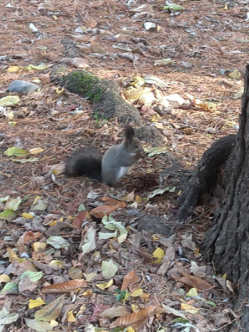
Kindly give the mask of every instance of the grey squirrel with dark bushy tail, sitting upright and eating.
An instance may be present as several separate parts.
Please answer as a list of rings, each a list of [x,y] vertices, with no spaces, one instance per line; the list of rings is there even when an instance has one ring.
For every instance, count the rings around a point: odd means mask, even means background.
[[[87,175],[114,186],[143,152],[141,142],[134,137],[133,128],[125,125],[125,139],[121,144],[111,146],[105,154],[92,148],[82,148],[69,157],[65,165],[67,176]]]

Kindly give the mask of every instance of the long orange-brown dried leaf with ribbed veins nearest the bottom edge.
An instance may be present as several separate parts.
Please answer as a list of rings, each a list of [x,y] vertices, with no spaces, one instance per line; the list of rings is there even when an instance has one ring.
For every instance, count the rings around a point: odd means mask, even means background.
[[[150,305],[147,308],[143,310],[138,310],[136,312],[133,312],[129,315],[120,317],[116,319],[112,324],[110,325],[110,328],[117,327],[117,326],[132,326],[135,328],[141,327],[145,322],[146,319],[154,314],[164,312],[165,309],[162,307],[156,306],[156,305]]]

